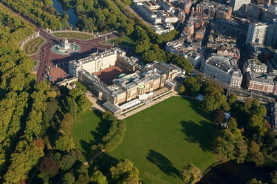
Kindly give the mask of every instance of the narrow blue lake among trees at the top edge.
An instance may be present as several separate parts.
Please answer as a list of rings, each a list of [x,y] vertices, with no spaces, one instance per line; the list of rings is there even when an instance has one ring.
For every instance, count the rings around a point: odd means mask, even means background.
[[[62,16],[64,15],[64,11],[69,15],[69,23],[73,26],[73,28],[76,27],[78,16],[73,10],[73,8],[69,8],[67,6],[64,6],[61,1],[59,0],[52,0],[53,6],[57,12],[59,12]]]

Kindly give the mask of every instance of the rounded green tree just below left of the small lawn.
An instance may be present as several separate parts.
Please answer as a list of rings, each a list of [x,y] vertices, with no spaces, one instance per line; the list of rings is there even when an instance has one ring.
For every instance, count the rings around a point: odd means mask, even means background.
[[[73,150],[75,148],[73,139],[67,135],[67,134],[62,134],[59,136],[57,141],[55,141],[54,149],[55,150],[61,150],[61,151],[67,151],[69,152],[70,150]]]

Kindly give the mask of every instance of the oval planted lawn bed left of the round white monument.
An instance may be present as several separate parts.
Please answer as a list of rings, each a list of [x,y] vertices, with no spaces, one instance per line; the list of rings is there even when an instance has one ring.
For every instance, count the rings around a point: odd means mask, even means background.
[[[35,37],[30,39],[27,43],[24,44],[23,50],[28,54],[35,54],[39,52],[41,46],[45,43],[45,39],[42,37]]]

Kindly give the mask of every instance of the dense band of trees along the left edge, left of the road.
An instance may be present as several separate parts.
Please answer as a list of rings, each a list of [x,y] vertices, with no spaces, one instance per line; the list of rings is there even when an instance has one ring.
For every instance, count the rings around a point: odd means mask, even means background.
[[[19,50],[19,41],[33,30],[32,25],[0,4],[0,176],[6,172],[10,154],[17,145],[21,121],[30,105],[29,91],[36,79],[30,74],[32,60]],[[21,147],[25,145],[21,144]]]

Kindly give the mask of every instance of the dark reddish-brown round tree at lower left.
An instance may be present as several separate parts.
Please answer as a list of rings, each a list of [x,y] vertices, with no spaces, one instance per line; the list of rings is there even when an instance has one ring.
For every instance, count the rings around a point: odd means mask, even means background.
[[[44,157],[42,161],[37,166],[37,170],[42,172],[48,177],[53,177],[59,172],[59,165],[57,165],[56,161],[52,157]]]

